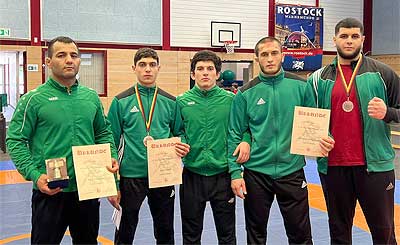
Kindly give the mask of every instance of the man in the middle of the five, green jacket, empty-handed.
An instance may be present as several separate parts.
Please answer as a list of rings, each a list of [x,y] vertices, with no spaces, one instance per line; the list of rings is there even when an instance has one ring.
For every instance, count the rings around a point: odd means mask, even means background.
[[[200,244],[206,202],[210,202],[219,244],[236,244],[235,195],[230,188],[227,154],[245,162],[250,146],[228,153],[227,128],[234,94],[218,86],[221,59],[212,51],[197,52],[191,61],[195,86],[177,97],[190,152],[184,159],[180,186],[183,244]],[[239,142],[240,143],[240,142]]]

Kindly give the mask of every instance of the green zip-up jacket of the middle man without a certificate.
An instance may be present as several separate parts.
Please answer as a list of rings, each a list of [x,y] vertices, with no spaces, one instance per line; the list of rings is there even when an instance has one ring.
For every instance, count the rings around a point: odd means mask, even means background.
[[[190,145],[183,160],[185,168],[204,176],[228,171],[227,130],[234,96],[218,86],[208,91],[194,86],[177,97],[186,143]]]

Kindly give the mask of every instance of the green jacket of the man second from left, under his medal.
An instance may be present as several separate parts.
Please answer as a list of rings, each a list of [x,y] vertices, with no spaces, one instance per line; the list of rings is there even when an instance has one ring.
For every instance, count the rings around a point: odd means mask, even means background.
[[[155,91],[138,85],[146,120]],[[150,135],[154,139],[165,139],[181,136],[181,122],[175,121],[175,97],[158,89]],[[180,116],[177,116],[179,119]],[[147,149],[143,138],[147,135],[146,125],[140,112],[135,87],[131,87],[117,95],[108,111],[115,144],[118,145],[120,175],[128,178],[147,178]]]

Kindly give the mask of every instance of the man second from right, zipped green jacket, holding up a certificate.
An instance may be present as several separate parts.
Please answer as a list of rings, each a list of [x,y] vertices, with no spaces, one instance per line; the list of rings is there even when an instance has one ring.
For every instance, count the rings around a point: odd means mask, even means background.
[[[281,68],[284,57],[277,39],[262,38],[255,54],[261,72],[236,94],[228,131],[228,151],[235,149],[245,131],[252,135],[243,177],[241,166],[228,154],[232,189],[244,199],[247,242],[266,243],[276,195],[289,244],[312,244],[305,160],[290,154],[294,107],[303,105],[306,83]]]

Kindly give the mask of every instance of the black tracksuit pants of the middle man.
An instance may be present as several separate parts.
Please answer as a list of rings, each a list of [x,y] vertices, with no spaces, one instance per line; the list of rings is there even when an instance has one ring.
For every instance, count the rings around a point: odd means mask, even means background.
[[[206,203],[214,216],[219,244],[236,244],[235,195],[228,172],[203,176],[186,168],[179,190],[183,244],[200,244]]]

